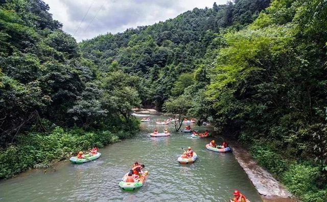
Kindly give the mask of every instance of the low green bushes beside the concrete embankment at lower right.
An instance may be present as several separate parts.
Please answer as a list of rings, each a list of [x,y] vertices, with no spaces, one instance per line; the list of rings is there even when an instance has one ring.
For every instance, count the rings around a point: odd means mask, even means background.
[[[285,187],[303,202],[322,202],[327,197],[323,170],[311,161],[286,158],[271,142],[256,141],[250,147],[251,156],[265,167]]]

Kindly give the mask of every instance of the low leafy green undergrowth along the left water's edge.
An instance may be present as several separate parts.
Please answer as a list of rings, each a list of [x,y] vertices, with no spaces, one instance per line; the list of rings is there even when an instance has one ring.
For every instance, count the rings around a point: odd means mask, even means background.
[[[136,131],[136,127],[117,132],[55,127],[48,133],[21,135],[14,145],[0,149],[0,179],[11,178],[31,168],[48,167],[50,163],[67,159],[78,151],[87,151],[95,146],[102,148],[131,137]]]

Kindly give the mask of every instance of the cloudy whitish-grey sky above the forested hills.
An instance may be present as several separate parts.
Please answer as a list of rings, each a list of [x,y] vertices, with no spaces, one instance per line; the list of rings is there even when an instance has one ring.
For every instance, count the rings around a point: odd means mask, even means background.
[[[43,0],[53,18],[77,41],[124,32],[174,18],[193,8],[212,8],[227,0]]]

